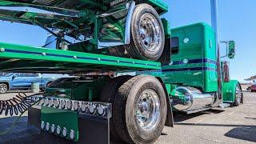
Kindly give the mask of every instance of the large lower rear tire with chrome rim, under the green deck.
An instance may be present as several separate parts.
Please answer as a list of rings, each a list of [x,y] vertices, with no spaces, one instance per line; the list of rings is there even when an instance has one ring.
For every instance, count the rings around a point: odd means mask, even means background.
[[[123,142],[151,143],[161,135],[167,104],[165,90],[157,78],[138,75],[123,81],[112,104],[112,130]]]

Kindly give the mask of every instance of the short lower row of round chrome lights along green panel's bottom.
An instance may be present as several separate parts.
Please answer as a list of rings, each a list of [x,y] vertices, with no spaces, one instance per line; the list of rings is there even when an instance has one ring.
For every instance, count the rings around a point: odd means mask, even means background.
[[[41,122],[41,129],[47,132],[50,132],[52,134],[57,134],[62,136],[63,138],[66,138],[68,136],[68,130],[66,127],[61,127],[61,126],[55,126],[54,124],[51,124],[49,122]],[[74,130],[70,130],[69,134],[70,140],[75,139],[75,132]]]

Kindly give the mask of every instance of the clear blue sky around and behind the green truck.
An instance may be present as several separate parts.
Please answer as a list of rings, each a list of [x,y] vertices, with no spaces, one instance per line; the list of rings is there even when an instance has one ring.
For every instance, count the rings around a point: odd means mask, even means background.
[[[172,27],[195,22],[210,24],[210,0],[166,0],[170,11],[165,17]],[[256,74],[256,1],[219,0],[221,40],[234,40],[237,55],[230,60],[231,78],[243,81]],[[0,42],[42,46],[46,31],[38,26],[0,22]],[[224,48],[224,46],[223,46]]]

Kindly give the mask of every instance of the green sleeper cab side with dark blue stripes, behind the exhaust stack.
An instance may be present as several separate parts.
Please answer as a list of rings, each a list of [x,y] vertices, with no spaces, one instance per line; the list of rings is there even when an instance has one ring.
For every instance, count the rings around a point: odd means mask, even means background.
[[[178,54],[172,54],[171,65],[162,66],[166,83],[195,86],[204,92],[218,90],[214,31],[205,23],[172,30],[178,38]],[[187,62],[186,62],[187,61]]]

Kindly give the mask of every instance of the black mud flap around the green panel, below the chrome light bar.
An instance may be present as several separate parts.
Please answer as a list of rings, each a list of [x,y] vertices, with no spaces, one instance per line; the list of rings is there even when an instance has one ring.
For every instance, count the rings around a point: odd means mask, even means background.
[[[28,125],[33,125],[41,130],[41,110],[39,108],[31,107],[28,111]],[[95,116],[79,114],[78,126],[79,140],[76,143],[110,143],[110,118],[97,118]],[[41,132],[40,139],[42,139],[44,142],[54,143],[71,142],[47,132]]]

